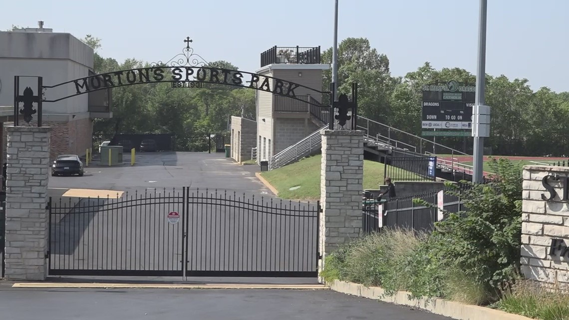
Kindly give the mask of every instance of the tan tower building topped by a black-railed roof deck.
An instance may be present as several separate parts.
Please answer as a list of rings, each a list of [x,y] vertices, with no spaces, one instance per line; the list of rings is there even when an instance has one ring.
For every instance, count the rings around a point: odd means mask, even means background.
[[[232,121],[231,128],[232,131],[241,134],[241,140],[253,140],[256,143],[253,146],[243,142],[237,145],[233,143],[232,135],[232,146],[239,149],[249,148],[249,150],[236,151],[232,158],[237,162],[246,161],[251,157],[250,148],[256,147],[257,161],[269,161],[274,154],[278,154],[324,126],[327,119],[323,118],[321,108],[314,105],[322,101],[320,93],[323,91],[322,72],[329,68],[330,65],[320,63],[320,47],[275,46],[263,52],[261,68],[255,72],[304,86],[295,89],[295,96],[300,101],[258,91],[255,137],[245,136],[237,122]],[[271,81],[273,88],[276,80]]]

